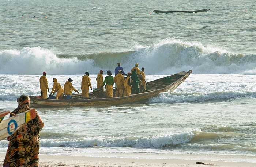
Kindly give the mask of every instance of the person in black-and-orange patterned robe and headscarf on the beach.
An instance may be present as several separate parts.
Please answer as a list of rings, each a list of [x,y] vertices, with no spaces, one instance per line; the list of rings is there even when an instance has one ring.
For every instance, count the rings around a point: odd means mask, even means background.
[[[19,106],[12,113],[19,114],[29,110],[29,103],[28,96],[20,96]],[[23,124],[7,138],[9,144],[3,167],[39,166],[40,131],[44,127],[44,122],[37,112],[36,114],[35,119]]]

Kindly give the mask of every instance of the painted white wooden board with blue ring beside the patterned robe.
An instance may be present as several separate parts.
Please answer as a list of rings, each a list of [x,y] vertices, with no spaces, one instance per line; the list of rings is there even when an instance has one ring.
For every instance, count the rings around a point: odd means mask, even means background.
[[[17,129],[23,124],[34,119],[36,117],[35,109],[27,110],[23,113],[12,116],[6,120],[3,120],[0,126],[0,140],[5,137],[11,136]]]

